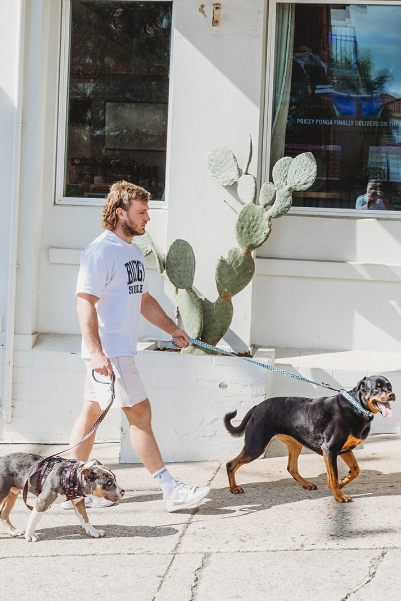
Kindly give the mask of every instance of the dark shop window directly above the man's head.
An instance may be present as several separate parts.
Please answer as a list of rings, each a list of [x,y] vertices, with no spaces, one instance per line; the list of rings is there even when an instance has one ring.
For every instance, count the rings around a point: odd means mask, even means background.
[[[171,10],[166,1],[66,2],[58,202],[103,203],[121,179],[164,200]]]

